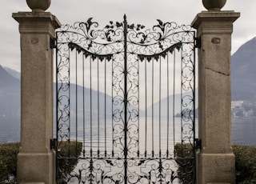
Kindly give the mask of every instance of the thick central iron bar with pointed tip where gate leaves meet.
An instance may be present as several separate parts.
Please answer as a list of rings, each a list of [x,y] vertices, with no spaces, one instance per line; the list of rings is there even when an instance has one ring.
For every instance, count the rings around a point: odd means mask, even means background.
[[[125,161],[124,161],[124,166],[125,166],[125,184],[127,183],[127,98],[128,98],[128,92],[127,92],[127,21],[126,21],[126,14],[124,15],[124,109],[125,109],[125,114],[124,114],[124,133],[125,133],[125,147],[124,147],[124,154],[125,154]]]

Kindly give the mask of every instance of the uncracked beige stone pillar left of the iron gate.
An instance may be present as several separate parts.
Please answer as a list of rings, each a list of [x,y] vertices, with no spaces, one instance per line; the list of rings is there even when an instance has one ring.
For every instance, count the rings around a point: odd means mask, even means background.
[[[54,183],[53,138],[53,50],[50,38],[60,26],[44,1],[32,12],[13,18],[21,34],[22,114],[21,147],[18,154],[18,183]],[[38,2],[40,2],[38,1]],[[29,3],[29,1],[27,1]],[[39,3],[40,4],[40,3]],[[29,4],[30,5],[30,4]]]

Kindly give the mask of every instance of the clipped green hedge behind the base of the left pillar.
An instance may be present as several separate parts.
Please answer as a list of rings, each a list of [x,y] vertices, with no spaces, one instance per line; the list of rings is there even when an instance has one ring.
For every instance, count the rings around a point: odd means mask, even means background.
[[[0,144],[0,184],[17,183],[17,154],[20,144],[6,143]],[[62,142],[60,146],[60,155],[65,158],[69,156],[68,162],[60,162],[59,169],[62,173],[59,178],[66,181],[68,175],[78,163],[78,156],[82,152],[82,142]]]

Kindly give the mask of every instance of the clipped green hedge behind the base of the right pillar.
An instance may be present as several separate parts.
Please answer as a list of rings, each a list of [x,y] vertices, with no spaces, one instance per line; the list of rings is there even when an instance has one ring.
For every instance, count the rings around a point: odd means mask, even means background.
[[[256,184],[256,147],[233,146],[235,155],[236,183]],[[175,146],[176,161],[179,165],[178,177],[182,183],[188,181],[188,174],[192,171],[193,150],[190,144],[177,144]]]

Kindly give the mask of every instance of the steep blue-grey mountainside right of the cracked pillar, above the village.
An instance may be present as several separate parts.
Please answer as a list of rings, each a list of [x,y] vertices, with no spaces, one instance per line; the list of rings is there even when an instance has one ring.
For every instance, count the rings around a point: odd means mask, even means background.
[[[256,98],[256,38],[243,44],[231,57],[232,100]]]

